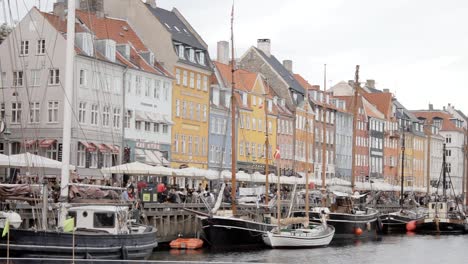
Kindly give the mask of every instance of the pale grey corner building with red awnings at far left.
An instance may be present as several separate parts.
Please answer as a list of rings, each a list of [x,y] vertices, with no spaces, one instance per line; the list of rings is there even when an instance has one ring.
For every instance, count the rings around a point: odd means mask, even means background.
[[[62,158],[63,107],[72,105],[70,163],[81,177],[119,164],[125,66],[112,41],[76,24],[74,96],[64,102],[66,19],[32,8],[0,46],[4,154]],[[21,32],[21,34],[20,34]]]

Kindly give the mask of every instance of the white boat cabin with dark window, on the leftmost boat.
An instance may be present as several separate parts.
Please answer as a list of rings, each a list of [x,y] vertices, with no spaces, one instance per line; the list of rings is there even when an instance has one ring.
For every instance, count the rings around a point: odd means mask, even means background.
[[[128,233],[128,207],[114,205],[87,205],[68,209],[75,218],[77,230],[94,230],[110,234]]]

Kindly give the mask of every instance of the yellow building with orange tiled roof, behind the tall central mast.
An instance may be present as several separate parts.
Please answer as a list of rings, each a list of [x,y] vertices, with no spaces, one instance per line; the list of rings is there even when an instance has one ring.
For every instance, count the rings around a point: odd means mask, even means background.
[[[215,62],[222,78],[231,83],[230,65]],[[277,109],[273,100],[275,94],[258,73],[238,69],[235,72],[237,127],[237,169],[264,173],[266,154],[269,157],[269,170],[275,169],[272,161],[276,146]],[[266,103],[265,103],[266,100]],[[269,147],[266,151],[265,139],[268,129]]]

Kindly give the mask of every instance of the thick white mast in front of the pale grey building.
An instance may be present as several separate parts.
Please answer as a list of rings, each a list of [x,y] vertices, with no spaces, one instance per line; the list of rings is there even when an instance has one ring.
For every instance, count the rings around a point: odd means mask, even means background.
[[[60,182],[60,200],[62,202],[66,202],[68,199],[68,184],[70,181],[71,104],[73,104],[73,66],[75,65],[75,2],[68,1],[65,92],[63,99],[62,179]],[[63,224],[65,217],[66,210],[60,210],[60,226]]]

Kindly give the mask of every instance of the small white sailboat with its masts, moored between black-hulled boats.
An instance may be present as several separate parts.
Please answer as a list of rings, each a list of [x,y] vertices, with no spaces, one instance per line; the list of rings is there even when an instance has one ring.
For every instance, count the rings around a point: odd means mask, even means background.
[[[305,102],[306,114],[309,113],[309,100]],[[306,142],[308,143],[308,118],[306,118]],[[308,151],[306,151],[306,161],[309,161]],[[278,170],[279,171],[279,170]],[[278,175],[277,193],[277,224],[278,227],[263,234],[263,242],[271,248],[308,248],[327,246],[335,235],[335,228],[328,226],[325,213],[321,214],[322,224],[310,225],[308,214],[306,217],[286,218],[283,221],[280,210],[280,181]],[[306,170],[306,199],[305,211],[309,212],[309,169]],[[282,228],[285,227],[286,228]],[[298,227],[299,226],[299,227]],[[302,226],[302,227],[300,227]]]

